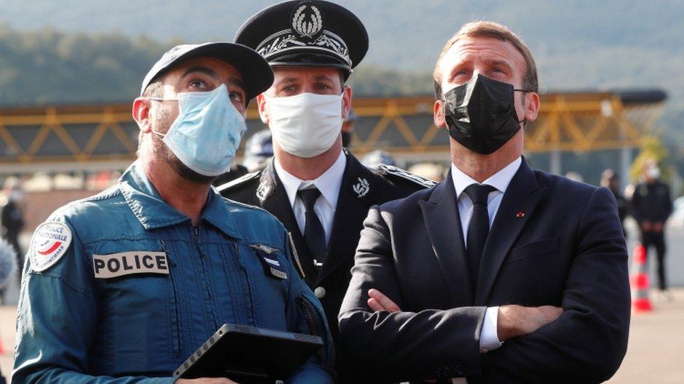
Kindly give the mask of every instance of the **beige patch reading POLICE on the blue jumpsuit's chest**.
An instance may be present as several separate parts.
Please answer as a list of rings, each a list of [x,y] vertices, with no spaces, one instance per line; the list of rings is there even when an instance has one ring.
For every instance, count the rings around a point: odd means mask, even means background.
[[[169,274],[165,252],[134,250],[130,252],[93,255],[95,278],[115,278],[133,273]]]

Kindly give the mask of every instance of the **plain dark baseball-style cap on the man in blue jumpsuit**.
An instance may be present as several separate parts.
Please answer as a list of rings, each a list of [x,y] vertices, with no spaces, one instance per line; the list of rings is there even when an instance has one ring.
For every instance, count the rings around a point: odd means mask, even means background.
[[[148,85],[173,66],[196,57],[214,57],[234,66],[240,72],[242,82],[245,83],[247,100],[254,99],[273,84],[271,66],[252,48],[226,42],[184,44],[171,48],[152,66],[142,80],[140,95],[142,96]]]

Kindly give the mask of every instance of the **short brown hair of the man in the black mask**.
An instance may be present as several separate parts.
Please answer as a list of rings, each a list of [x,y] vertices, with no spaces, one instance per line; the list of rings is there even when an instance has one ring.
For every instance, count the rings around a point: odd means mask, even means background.
[[[442,57],[446,55],[446,52],[449,52],[449,49],[451,49],[457,41],[473,37],[493,37],[498,38],[500,41],[507,41],[513,44],[518,52],[523,55],[525,63],[527,64],[527,71],[523,79],[523,89],[538,92],[539,80],[537,77],[537,64],[535,64],[530,48],[528,48],[517,34],[514,34],[513,31],[505,27],[505,25],[497,22],[479,21],[464,24],[463,27],[460,27],[458,32],[451,36],[449,41],[444,44],[442,52],[440,52],[439,57],[437,57],[435,71],[432,73],[432,79],[435,83],[435,99],[442,99],[442,73],[439,73],[439,62],[442,61]]]

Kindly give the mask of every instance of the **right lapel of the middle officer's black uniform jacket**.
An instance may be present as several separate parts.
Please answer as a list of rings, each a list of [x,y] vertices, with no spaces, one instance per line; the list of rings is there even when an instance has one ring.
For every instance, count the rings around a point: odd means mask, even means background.
[[[371,171],[349,152],[345,151],[345,155],[347,164],[335,207],[327,255],[318,273],[318,283],[344,264],[348,258],[354,257],[363,229],[363,220],[380,192]]]

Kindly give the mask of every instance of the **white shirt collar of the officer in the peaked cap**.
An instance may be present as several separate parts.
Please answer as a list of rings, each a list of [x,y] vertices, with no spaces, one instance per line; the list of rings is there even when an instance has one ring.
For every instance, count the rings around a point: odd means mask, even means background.
[[[282,186],[285,187],[285,192],[287,192],[287,199],[289,199],[290,206],[294,206],[294,199],[297,196],[297,191],[303,189],[303,187],[308,187],[309,185],[315,185],[331,206],[337,206],[337,199],[340,195],[340,187],[342,185],[342,177],[344,176],[344,169],[347,165],[347,157],[344,155],[343,151],[340,151],[340,155],[330,168],[315,180],[301,180],[296,176],[292,176],[292,174],[282,168],[278,159],[275,159],[273,163],[275,171],[280,178],[280,182],[282,183]]]

